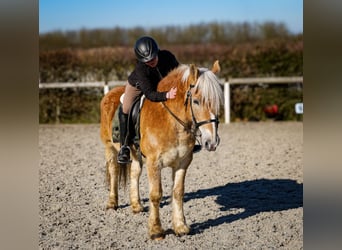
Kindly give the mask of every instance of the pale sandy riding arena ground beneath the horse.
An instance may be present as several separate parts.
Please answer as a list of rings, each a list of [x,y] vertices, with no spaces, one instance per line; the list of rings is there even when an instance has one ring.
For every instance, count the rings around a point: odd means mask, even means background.
[[[303,123],[220,124],[216,152],[194,155],[185,181],[190,235],[171,225],[171,171],[163,169],[162,241],[133,215],[128,189],[105,210],[104,147],[95,125],[39,126],[39,249],[302,249]]]

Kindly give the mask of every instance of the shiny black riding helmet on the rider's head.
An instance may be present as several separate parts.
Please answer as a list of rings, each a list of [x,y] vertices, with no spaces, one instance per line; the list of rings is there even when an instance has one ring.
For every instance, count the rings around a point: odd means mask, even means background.
[[[135,56],[140,62],[148,62],[155,58],[159,48],[157,42],[149,36],[140,37],[134,46]]]

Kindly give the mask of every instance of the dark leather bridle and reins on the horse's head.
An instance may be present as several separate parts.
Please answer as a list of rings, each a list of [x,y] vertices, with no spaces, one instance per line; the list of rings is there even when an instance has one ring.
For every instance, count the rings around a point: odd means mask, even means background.
[[[163,106],[165,107],[165,109],[176,119],[176,121],[178,121],[183,127],[184,129],[193,134],[195,138],[197,137],[200,137],[201,134],[197,133],[199,130],[199,127],[204,125],[204,124],[207,124],[207,123],[215,123],[215,132],[216,132],[216,146],[218,146],[220,144],[220,137],[218,136],[218,124],[219,124],[219,119],[218,119],[218,115],[215,115],[215,118],[214,119],[208,119],[208,120],[204,120],[204,121],[200,121],[198,122],[196,117],[195,117],[195,114],[194,114],[194,110],[193,110],[193,107],[192,107],[192,93],[191,93],[191,89],[195,87],[195,85],[192,85],[190,84],[190,87],[188,89],[188,91],[186,92],[186,99],[185,99],[185,102],[184,102],[184,106],[185,106],[185,109],[187,108],[188,106],[188,103],[190,101],[190,110],[191,110],[191,116],[192,116],[192,126],[189,126],[187,123],[185,123],[184,121],[182,121],[179,117],[177,117],[171,110],[168,106],[166,106],[165,102],[162,102]]]

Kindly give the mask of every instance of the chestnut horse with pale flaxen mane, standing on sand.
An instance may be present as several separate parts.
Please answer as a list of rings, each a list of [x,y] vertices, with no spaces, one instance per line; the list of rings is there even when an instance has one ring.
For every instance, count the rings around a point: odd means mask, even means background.
[[[222,88],[215,73],[220,70],[218,61],[211,70],[194,65],[180,65],[158,85],[159,91],[177,87],[175,99],[166,102],[145,100],[140,115],[140,149],[146,163],[149,181],[149,235],[163,239],[164,230],[159,218],[162,198],[161,170],[172,168],[172,224],[176,235],[190,231],[183,212],[184,179],[193,158],[196,139],[208,151],[219,144],[218,114],[223,101]],[[121,175],[130,178],[130,203],[134,213],[143,211],[139,194],[141,166],[138,154],[131,145],[132,163],[117,163],[119,143],[112,140],[112,120],[120,103],[124,86],[113,88],[101,101],[101,139],[105,145],[107,179],[110,185],[107,209],[118,208],[118,187]],[[124,183],[125,183],[124,182]]]

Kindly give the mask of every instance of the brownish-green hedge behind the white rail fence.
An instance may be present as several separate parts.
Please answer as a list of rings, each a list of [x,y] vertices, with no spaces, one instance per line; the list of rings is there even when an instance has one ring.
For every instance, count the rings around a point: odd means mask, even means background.
[[[211,67],[218,59],[219,77],[303,75],[303,39],[292,37],[238,45],[170,45],[181,63]],[[39,54],[41,82],[126,80],[134,68],[130,47],[45,50]],[[40,89],[40,123],[99,122],[102,89]],[[294,105],[303,101],[301,84],[232,86],[231,118],[239,120],[302,120]],[[279,113],[269,117],[264,108],[277,104]],[[57,110],[59,109],[59,115]]]

